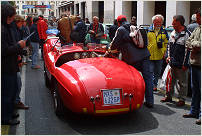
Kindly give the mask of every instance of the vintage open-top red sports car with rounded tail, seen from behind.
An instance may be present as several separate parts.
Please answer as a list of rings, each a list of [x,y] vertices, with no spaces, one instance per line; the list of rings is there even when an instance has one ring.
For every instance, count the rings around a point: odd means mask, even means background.
[[[44,44],[44,78],[53,91],[56,115],[64,108],[75,113],[112,115],[134,111],[143,104],[145,82],[132,66],[102,45],[61,46],[48,36]]]

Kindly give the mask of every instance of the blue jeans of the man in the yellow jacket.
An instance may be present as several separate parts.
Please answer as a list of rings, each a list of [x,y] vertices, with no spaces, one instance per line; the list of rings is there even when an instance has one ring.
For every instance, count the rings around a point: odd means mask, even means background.
[[[158,80],[161,76],[163,60],[150,60],[150,67],[153,72],[153,88],[157,87]]]

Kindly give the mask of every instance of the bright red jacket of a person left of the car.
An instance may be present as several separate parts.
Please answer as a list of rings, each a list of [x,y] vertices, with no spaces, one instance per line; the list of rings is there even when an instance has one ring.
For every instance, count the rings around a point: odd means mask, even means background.
[[[46,40],[47,34],[46,30],[48,29],[47,23],[43,20],[43,18],[39,17],[39,21],[37,23],[37,30],[39,33],[39,38]]]

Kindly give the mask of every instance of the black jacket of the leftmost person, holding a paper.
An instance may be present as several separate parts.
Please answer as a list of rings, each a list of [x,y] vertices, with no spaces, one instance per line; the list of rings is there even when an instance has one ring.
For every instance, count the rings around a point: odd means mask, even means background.
[[[1,74],[15,74],[18,71],[18,55],[22,48],[12,38],[8,24],[1,24]]]

